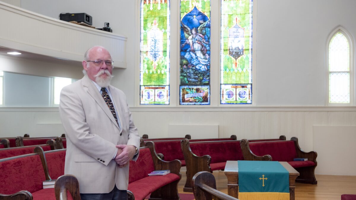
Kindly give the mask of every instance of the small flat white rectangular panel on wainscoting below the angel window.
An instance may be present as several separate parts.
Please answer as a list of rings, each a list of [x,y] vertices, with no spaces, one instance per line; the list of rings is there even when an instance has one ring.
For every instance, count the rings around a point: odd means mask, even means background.
[[[190,135],[192,139],[208,139],[219,137],[219,125],[185,125],[169,124],[167,137],[184,137]]]

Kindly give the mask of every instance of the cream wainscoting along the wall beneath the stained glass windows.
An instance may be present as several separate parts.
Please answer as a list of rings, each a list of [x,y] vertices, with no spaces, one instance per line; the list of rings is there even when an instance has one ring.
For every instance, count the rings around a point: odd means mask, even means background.
[[[216,125],[219,138],[236,135],[238,140],[264,139],[285,135],[290,140],[291,137],[298,137],[303,151],[318,153],[316,174],[356,175],[352,172],[356,168],[356,107],[132,107],[130,110],[141,136],[168,137],[169,125]],[[39,136],[36,131],[40,128],[37,125],[41,124],[42,131],[45,131],[48,124],[59,123],[58,108],[0,107],[0,137],[23,136],[24,133],[36,137]],[[58,128],[59,125],[55,126]],[[327,130],[330,129],[329,133],[316,130],[316,126],[326,126]],[[333,131],[330,127],[337,128]],[[56,131],[57,135],[61,133],[59,129]],[[172,137],[184,137],[185,134]]]

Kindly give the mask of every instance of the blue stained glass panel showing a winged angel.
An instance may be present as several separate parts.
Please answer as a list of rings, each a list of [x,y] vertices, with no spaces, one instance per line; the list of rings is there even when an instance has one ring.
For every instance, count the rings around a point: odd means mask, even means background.
[[[180,0],[180,105],[210,104],[210,0]]]

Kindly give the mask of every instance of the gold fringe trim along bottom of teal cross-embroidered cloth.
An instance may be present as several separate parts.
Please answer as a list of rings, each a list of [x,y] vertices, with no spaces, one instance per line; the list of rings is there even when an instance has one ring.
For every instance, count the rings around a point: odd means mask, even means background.
[[[289,200],[289,193],[239,193],[240,200]]]

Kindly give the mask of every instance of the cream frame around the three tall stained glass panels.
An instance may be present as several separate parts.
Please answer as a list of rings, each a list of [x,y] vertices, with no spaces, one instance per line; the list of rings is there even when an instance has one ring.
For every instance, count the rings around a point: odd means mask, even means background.
[[[255,107],[256,100],[258,94],[256,93],[256,71],[257,71],[257,62],[256,62],[256,36],[252,37],[252,104],[221,104],[220,103],[220,43],[221,43],[221,0],[211,1],[211,7],[216,7],[216,9],[211,9],[211,16],[216,16],[211,18],[211,38],[215,38],[211,40],[211,46],[216,46],[218,48],[211,49],[210,65],[216,65],[218,67],[211,67],[210,69],[210,105],[180,105],[179,102],[179,85],[180,85],[180,52],[179,52],[179,40],[175,38],[179,38],[180,36],[180,1],[170,1],[170,70],[169,70],[169,105],[141,105],[140,104],[140,59],[141,59],[141,47],[140,47],[140,38],[141,38],[141,0],[136,0],[136,9],[135,9],[135,21],[136,21],[136,32],[135,36],[137,40],[135,40],[135,88],[134,88],[134,102],[135,107],[189,107],[189,108],[223,108],[223,107]],[[258,0],[253,0],[253,26],[252,32],[256,32],[257,30],[257,9],[258,9]]]

